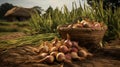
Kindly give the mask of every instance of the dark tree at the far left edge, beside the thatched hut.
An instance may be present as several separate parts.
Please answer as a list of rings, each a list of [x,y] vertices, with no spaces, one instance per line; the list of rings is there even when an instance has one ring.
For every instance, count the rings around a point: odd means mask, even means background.
[[[14,6],[12,4],[9,4],[9,3],[1,4],[1,6],[0,6],[0,19],[4,19],[5,13],[13,7]]]

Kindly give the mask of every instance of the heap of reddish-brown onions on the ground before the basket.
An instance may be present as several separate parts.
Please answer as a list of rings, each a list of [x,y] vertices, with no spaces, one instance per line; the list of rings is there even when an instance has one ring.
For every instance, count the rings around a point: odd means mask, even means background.
[[[67,62],[72,63],[74,60],[84,60],[92,56],[90,52],[82,49],[78,42],[71,41],[67,34],[66,40],[54,39],[52,42],[44,42],[39,49],[40,61],[44,63]]]

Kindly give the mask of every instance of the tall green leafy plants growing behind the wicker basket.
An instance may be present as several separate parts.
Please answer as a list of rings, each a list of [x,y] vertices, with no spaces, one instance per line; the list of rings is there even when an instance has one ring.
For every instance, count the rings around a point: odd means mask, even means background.
[[[93,0],[94,1],[94,0]],[[89,18],[90,20],[104,22],[108,26],[108,31],[105,34],[105,40],[120,38],[120,8],[114,11],[112,7],[103,8],[103,1],[94,1],[93,5],[84,7],[73,2],[72,10],[69,11],[64,5],[61,10],[49,7],[43,15],[35,14],[30,20],[32,31],[35,33],[57,32],[57,26],[63,24],[74,23],[76,19],[82,20]]]

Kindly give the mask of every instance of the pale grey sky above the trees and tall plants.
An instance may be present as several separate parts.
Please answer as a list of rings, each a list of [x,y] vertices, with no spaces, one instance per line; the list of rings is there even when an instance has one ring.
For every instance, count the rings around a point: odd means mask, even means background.
[[[32,8],[33,6],[40,6],[42,9],[46,10],[49,6],[52,6],[53,9],[58,7],[61,9],[63,5],[66,5],[69,10],[72,9],[72,2],[76,2],[79,6],[79,1],[81,4],[86,0],[0,0],[0,5],[3,3],[10,3],[15,6]]]

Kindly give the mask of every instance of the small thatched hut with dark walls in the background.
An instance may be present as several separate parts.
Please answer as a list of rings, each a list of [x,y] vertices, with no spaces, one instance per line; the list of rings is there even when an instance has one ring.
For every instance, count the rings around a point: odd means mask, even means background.
[[[31,17],[34,10],[31,8],[13,7],[4,15],[8,21],[24,21]]]

